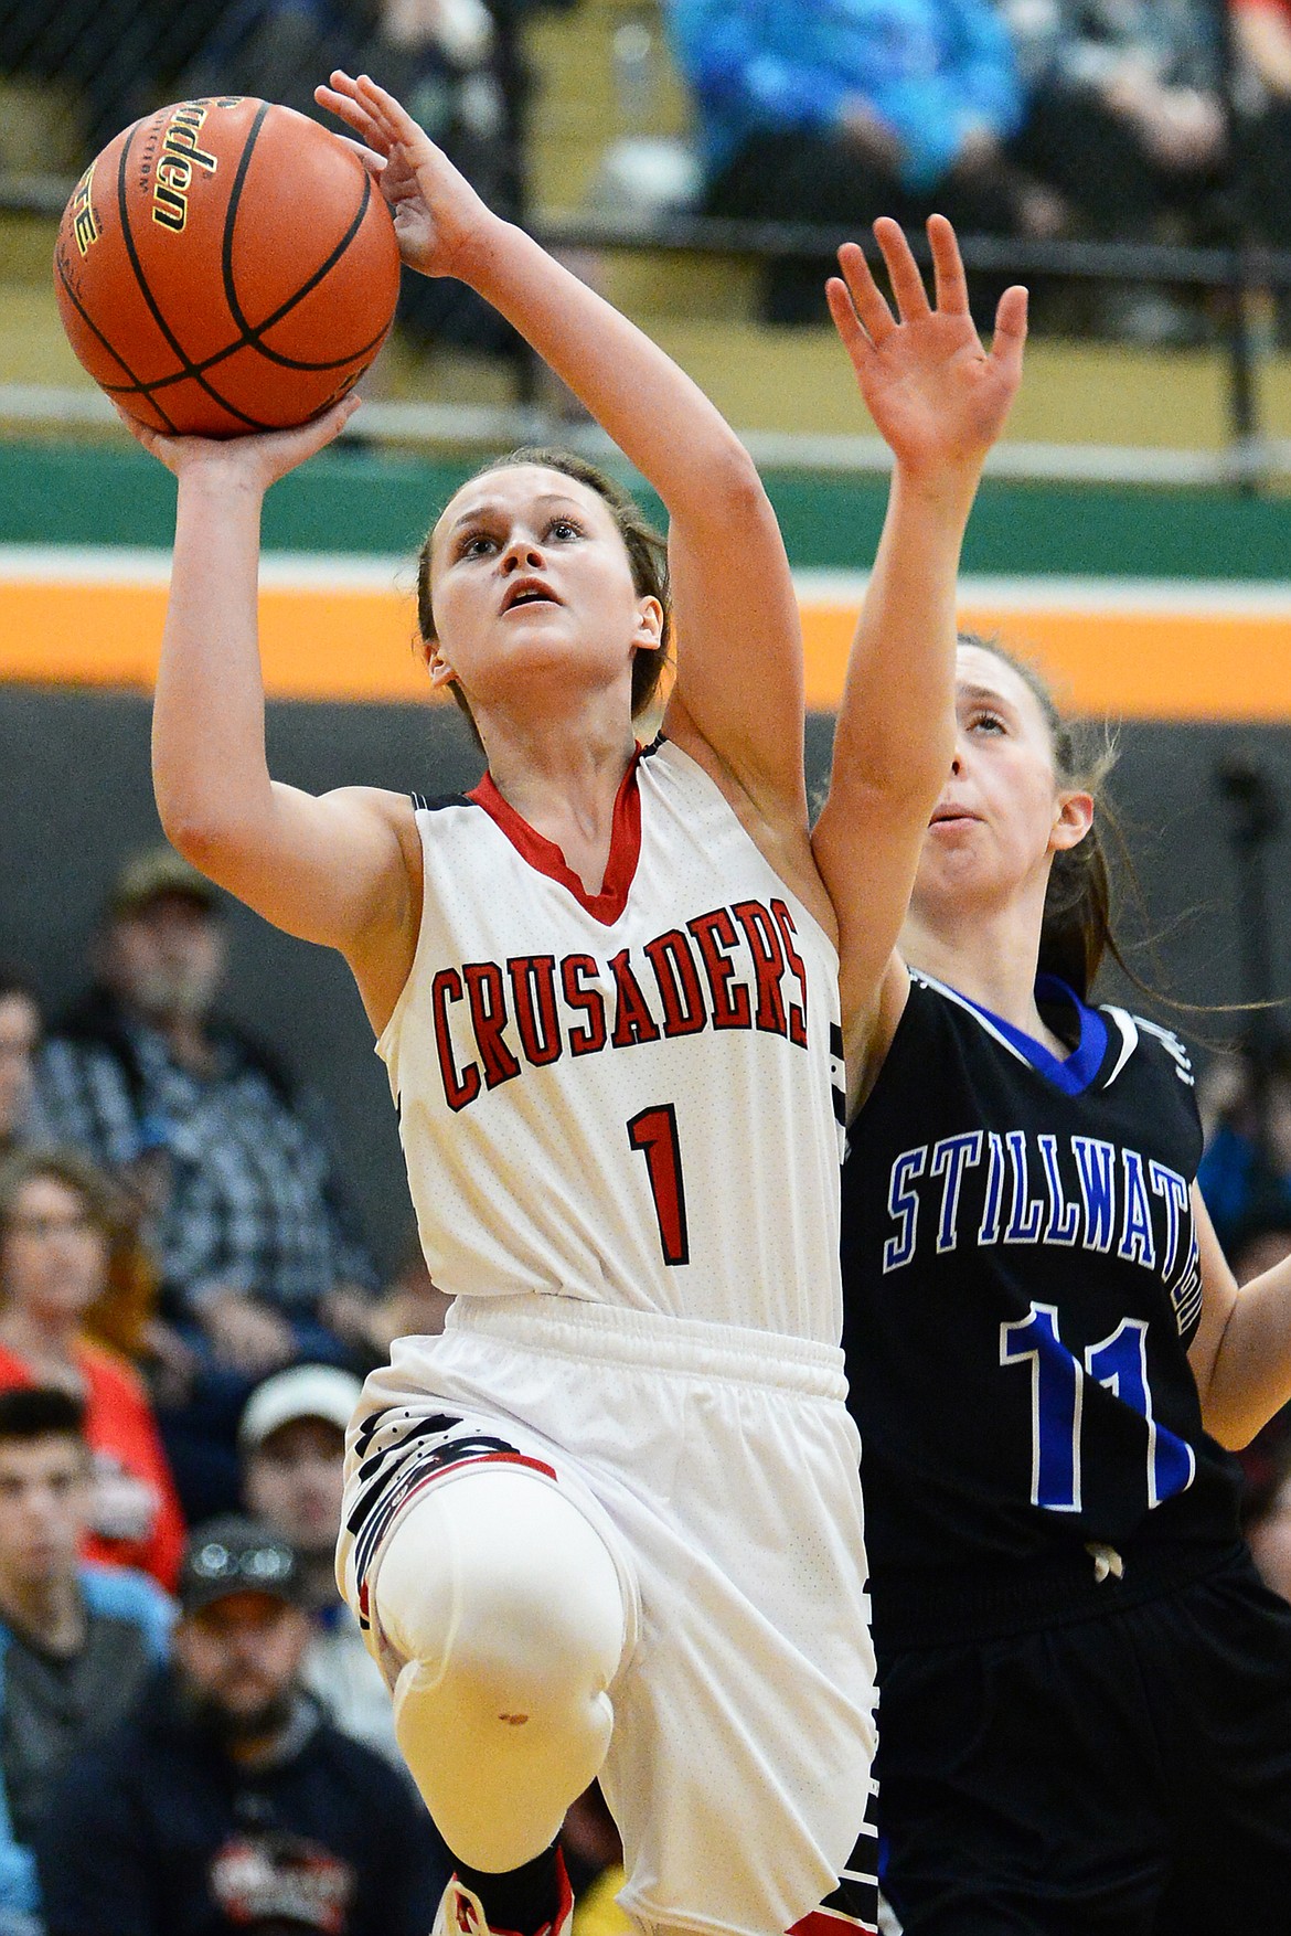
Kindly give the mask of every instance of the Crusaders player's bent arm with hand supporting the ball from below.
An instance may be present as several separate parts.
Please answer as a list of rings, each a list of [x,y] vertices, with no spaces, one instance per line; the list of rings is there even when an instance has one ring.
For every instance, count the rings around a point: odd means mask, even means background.
[[[370,788],[315,800],[271,780],[255,614],[263,496],[329,443],[354,407],[346,399],[300,430],[226,441],[163,438],[126,422],[178,478],[153,705],[163,829],[203,873],[277,927],[337,947],[360,968],[368,953],[387,956],[389,999],[372,976],[360,976],[374,1018],[383,1020],[379,1011],[393,1007],[406,974],[391,939],[412,931],[416,916],[408,906],[416,858],[412,875],[406,865],[412,813],[397,796]],[[377,933],[383,947],[370,951]]]

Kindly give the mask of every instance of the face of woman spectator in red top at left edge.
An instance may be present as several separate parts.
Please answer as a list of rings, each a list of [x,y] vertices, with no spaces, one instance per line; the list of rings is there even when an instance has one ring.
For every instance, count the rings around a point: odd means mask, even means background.
[[[81,1193],[60,1177],[27,1177],[0,1239],[4,1305],[54,1328],[75,1322],[103,1289],[106,1258]]]

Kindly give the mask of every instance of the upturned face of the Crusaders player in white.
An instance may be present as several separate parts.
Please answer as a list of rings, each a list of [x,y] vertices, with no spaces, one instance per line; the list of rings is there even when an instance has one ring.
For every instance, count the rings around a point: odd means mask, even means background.
[[[631,718],[631,662],[662,612],[598,492],[542,465],[488,470],[449,501],[430,558],[435,683],[526,716],[612,689]]]

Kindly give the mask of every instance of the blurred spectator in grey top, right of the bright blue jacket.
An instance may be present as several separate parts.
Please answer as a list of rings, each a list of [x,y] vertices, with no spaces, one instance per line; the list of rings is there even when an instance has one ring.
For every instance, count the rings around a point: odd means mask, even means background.
[[[1028,106],[1012,155],[1094,236],[1206,240],[1225,161],[1221,39],[1210,0],[1001,0]],[[1107,298],[1123,335],[1186,335],[1165,296]]]

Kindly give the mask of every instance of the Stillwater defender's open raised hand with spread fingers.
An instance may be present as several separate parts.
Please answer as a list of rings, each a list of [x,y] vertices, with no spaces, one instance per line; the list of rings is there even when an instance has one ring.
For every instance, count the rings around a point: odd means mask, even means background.
[[[1001,296],[987,354],[968,310],[964,263],[946,217],[931,215],[927,223],[935,306],[900,225],[881,217],[875,238],[896,316],[856,242],[838,250],[842,277],[826,285],[834,327],[869,414],[908,470],[976,470],[1005,428],[1022,379],[1026,290],[1014,287]]]

